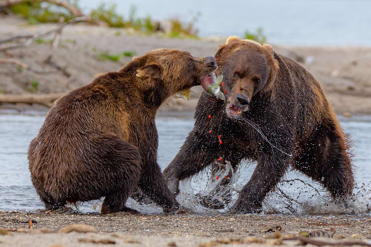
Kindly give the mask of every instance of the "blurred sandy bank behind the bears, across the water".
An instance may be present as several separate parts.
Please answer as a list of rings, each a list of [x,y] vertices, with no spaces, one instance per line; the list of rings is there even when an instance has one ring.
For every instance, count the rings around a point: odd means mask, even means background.
[[[0,17],[1,39],[16,34],[31,34],[53,29],[55,24],[28,25],[14,17]],[[111,55],[131,51],[141,56],[148,50],[175,48],[188,50],[193,56],[213,56],[225,38],[200,40],[164,39],[130,31],[77,24],[66,26],[52,61],[62,69],[44,64],[43,57],[53,37],[45,37],[23,49],[0,52],[0,59],[20,60],[29,69],[20,70],[14,64],[0,63],[0,89],[5,94],[68,92],[90,83],[96,73],[115,71],[131,60],[121,56],[118,61],[99,59],[99,54]],[[269,37],[268,37],[269,41]],[[275,51],[298,61],[324,86],[332,108],[345,116],[371,114],[371,47],[293,47],[272,44]],[[3,44],[4,46],[4,44]],[[37,88],[32,88],[37,81]],[[193,88],[190,102],[177,99],[165,109],[193,111],[201,89]],[[4,104],[1,108],[10,107]],[[14,107],[14,106],[12,106]],[[15,106],[17,107],[17,106]],[[22,106],[19,106],[22,108]]]

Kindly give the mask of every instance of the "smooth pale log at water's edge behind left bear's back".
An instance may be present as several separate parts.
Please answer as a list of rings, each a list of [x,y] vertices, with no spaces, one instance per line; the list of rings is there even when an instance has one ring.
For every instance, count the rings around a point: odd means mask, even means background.
[[[0,94],[0,103],[26,103],[42,104],[52,107],[54,101],[66,93],[48,93],[48,94]]]

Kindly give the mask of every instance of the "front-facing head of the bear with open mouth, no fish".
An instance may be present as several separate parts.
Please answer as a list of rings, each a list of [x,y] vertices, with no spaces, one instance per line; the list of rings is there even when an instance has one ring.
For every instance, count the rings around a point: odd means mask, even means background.
[[[278,73],[272,46],[230,36],[215,55],[226,89],[226,112],[238,118],[253,97],[270,90]]]

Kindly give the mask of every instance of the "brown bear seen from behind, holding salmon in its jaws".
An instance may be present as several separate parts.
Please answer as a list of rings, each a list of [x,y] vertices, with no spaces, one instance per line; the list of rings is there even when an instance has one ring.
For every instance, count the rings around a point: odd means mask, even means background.
[[[157,163],[155,116],[165,99],[215,70],[213,57],[158,49],[61,97],[28,150],[46,209],[105,197],[102,214],[138,213],[125,206],[137,186],[165,212],[178,208]]]

